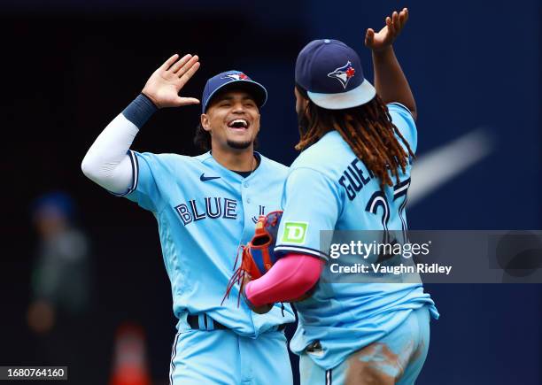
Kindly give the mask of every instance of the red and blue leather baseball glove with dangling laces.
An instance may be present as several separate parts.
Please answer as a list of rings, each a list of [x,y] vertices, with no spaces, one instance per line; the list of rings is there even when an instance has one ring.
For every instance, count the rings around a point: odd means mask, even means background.
[[[261,215],[256,223],[256,232],[252,237],[252,240],[246,245],[240,245],[237,250],[236,263],[234,270],[236,269],[239,259],[239,253],[241,253],[241,266],[239,266],[231,279],[228,282],[226,288],[226,294],[222,298],[222,304],[229,297],[231,289],[236,284],[239,284],[239,295],[237,296],[237,306],[239,306],[241,300],[241,294],[244,295],[244,285],[252,280],[257,280],[259,277],[267,273],[271,266],[275,265],[277,260],[275,256],[275,242],[276,234],[278,232],[279,223],[283,212],[269,212],[267,215]],[[246,299],[246,298],[245,298]],[[246,301],[249,306],[251,304]],[[254,312],[268,312],[273,305],[260,306],[254,308],[251,306]]]

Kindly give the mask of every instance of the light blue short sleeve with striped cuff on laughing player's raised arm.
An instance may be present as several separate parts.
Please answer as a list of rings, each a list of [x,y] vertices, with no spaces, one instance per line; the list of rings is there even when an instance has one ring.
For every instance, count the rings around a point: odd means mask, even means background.
[[[129,150],[128,155],[132,161],[134,178],[128,192],[122,196],[136,202],[145,210],[159,212],[162,206],[156,175],[159,171],[159,157],[149,152],[139,153],[133,150]]]

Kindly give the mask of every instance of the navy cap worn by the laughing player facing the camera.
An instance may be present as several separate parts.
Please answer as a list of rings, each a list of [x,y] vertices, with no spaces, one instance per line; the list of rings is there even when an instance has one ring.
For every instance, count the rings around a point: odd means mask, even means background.
[[[202,96],[202,113],[207,111],[209,102],[219,90],[242,89],[252,96],[258,107],[267,102],[267,89],[257,81],[252,81],[246,74],[240,71],[226,71],[213,76],[205,84],[204,94]]]

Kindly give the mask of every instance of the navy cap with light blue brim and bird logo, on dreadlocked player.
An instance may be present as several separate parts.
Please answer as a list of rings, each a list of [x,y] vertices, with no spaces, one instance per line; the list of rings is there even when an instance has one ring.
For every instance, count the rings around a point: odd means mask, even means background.
[[[328,110],[356,107],[376,96],[373,85],[363,77],[356,51],[338,40],[306,44],[296,61],[296,83],[314,104]]]

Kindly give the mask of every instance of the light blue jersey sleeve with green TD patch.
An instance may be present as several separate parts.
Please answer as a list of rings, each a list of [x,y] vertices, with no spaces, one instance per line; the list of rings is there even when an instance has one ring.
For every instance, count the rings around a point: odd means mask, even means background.
[[[283,191],[283,217],[277,233],[275,253],[307,254],[328,259],[321,245],[321,230],[333,230],[341,212],[337,186],[324,174],[310,168],[296,168]]]

